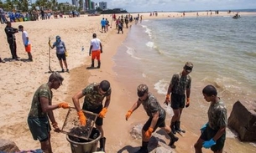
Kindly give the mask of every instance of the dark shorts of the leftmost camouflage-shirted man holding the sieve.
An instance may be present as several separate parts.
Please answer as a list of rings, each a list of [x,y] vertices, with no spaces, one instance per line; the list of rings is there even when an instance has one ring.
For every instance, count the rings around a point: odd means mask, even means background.
[[[48,117],[28,117],[28,125],[34,140],[48,140],[51,130]]]

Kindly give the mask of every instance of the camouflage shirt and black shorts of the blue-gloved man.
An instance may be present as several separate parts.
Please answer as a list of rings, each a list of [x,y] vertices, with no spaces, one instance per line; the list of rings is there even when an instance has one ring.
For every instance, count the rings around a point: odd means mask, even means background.
[[[203,131],[200,138],[202,140],[211,140],[217,131],[222,126],[227,126],[227,109],[223,101],[220,99],[217,103],[212,103],[208,110],[208,125]],[[226,133],[224,133],[217,141],[216,145],[212,145],[211,150],[222,150],[226,140]]]

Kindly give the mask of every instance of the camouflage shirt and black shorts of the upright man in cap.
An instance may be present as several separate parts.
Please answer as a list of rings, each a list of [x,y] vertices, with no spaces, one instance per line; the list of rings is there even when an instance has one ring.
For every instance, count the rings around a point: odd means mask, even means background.
[[[185,89],[191,89],[191,75],[174,74],[170,80],[171,89],[171,108],[177,110],[185,107]]]

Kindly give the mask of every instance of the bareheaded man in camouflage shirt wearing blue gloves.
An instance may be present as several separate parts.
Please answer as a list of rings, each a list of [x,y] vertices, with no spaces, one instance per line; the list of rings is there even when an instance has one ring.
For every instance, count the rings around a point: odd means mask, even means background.
[[[211,105],[208,109],[208,122],[201,127],[201,136],[196,141],[195,152],[201,153],[201,148],[211,148],[214,153],[222,153],[226,140],[227,109],[222,99],[217,97],[217,89],[206,85],[202,89],[206,102]]]

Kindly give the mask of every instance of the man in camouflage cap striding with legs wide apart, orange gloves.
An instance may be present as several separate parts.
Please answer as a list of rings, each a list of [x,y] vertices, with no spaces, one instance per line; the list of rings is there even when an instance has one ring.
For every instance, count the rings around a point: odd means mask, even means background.
[[[139,84],[137,87],[138,100],[133,104],[132,108],[128,110],[125,119],[132,115],[134,110],[137,110],[140,105],[144,106],[144,110],[149,116],[149,120],[144,124],[142,129],[142,146],[138,150],[141,153],[148,153],[149,139],[152,133],[160,127],[170,136],[170,146],[179,140],[170,130],[170,126],[165,125],[165,110],[159,105],[159,101],[153,94],[149,93],[149,88],[146,84]]]

